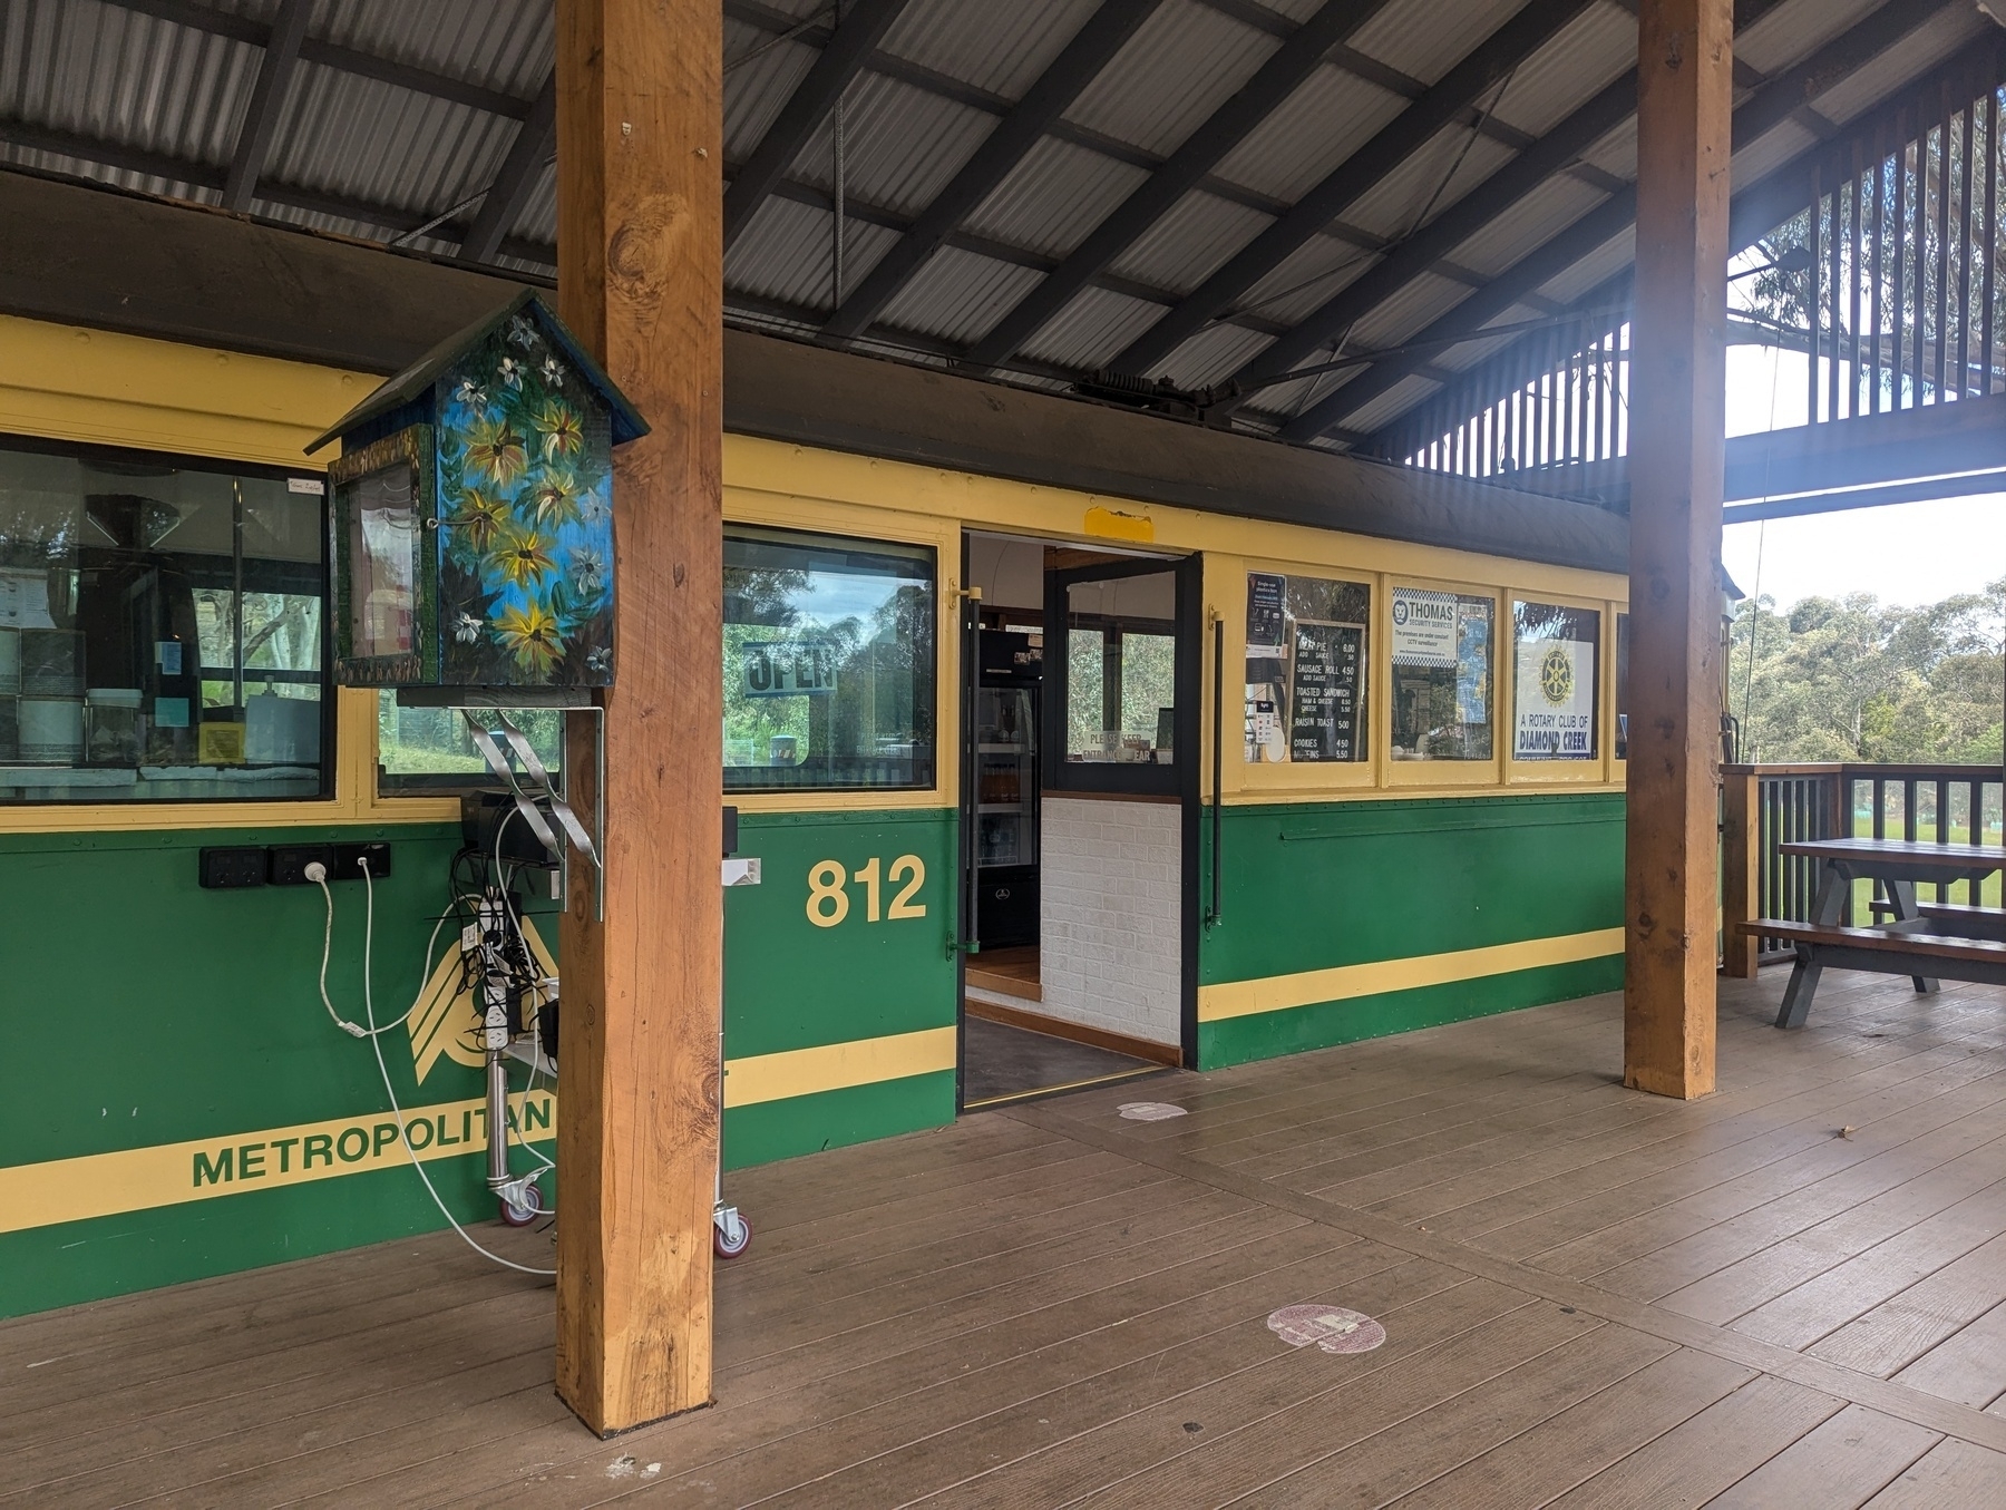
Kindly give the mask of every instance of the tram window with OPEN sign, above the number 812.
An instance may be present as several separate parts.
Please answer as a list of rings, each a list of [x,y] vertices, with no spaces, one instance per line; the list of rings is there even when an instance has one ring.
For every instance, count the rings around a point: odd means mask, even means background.
[[[873,539],[724,533],[724,790],[927,788],[935,557]]]

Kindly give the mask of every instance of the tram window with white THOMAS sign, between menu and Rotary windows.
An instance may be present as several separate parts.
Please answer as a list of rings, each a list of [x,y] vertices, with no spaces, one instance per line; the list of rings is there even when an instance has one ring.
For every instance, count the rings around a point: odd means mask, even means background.
[[[1490,760],[1496,602],[1392,590],[1392,758]]]

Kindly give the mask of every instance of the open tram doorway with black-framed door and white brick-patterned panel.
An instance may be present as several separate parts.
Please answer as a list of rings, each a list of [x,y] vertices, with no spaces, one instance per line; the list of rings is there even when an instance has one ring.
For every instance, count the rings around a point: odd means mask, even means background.
[[[1196,576],[969,531],[963,580],[963,1107],[1184,1063]]]

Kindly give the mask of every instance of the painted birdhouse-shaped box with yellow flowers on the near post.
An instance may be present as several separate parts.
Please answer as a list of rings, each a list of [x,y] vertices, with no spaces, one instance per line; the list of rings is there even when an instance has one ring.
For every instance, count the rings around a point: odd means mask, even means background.
[[[614,680],[616,445],[646,421],[526,289],[385,381],[333,439],[335,680]]]

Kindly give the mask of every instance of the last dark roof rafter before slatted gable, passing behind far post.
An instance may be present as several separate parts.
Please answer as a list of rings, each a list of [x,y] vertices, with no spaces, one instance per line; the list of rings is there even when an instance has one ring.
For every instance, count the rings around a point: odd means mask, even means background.
[[[1799,104],[1829,90],[1860,64],[1914,32],[1946,4],[1950,0],[1892,0],[1868,12],[1864,20],[1821,46],[1795,68],[1787,68],[1771,78],[1735,110],[1735,150],[1789,120]],[[1527,295],[1561,277],[1589,253],[1615,241],[1635,219],[1637,188],[1631,184],[1523,257],[1412,339],[1440,341],[1450,335],[1466,335],[1470,341],[1482,341],[1484,325],[1504,315],[1513,305],[1523,303]],[[1290,419],[1282,425],[1280,435],[1286,441],[1308,443],[1346,415],[1358,413],[1366,403],[1390,391],[1412,373],[1412,357],[1394,357],[1392,361],[1376,363],[1336,393],[1310,405],[1296,419]]]

